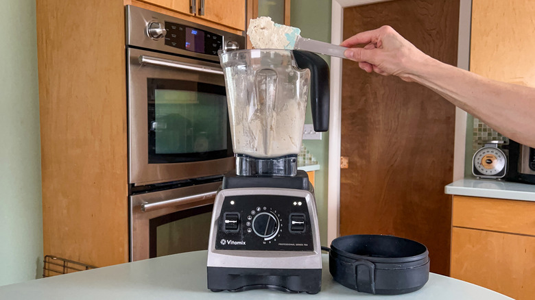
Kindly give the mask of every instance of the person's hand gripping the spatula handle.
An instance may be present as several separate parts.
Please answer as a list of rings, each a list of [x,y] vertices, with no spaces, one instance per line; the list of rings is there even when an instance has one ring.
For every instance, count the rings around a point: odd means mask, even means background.
[[[430,59],[390,26],[355,34],[341,45],[350,47],[344,55],[359,62],[364,71],[396,75],[406,82],[412,82],[416,67]],[[357,45],[366,46],[357,48]]]

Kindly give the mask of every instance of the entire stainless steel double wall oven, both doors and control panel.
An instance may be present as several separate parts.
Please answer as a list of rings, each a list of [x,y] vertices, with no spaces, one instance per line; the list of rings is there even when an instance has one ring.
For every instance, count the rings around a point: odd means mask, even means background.
[[[130,260],[206,249],[235,167],[217,51],[245,38],[126,6]]]

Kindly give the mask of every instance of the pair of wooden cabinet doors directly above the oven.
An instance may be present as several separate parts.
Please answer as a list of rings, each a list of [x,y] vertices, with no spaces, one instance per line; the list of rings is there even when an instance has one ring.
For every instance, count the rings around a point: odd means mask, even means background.
[[[244,0],[141,0],[141,2],[245,30],[246,1]]]

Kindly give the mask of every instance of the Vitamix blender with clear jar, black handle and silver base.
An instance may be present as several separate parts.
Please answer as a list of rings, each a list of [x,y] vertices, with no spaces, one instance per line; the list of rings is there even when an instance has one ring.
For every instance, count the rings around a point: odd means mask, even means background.
[[[307,173],[297,170],[307,96],[316,132],[329,127],[329,66],[307,51],[219,51],[236,171],[215,197],[207,273],[212,291],[316,294],[322,261]]]

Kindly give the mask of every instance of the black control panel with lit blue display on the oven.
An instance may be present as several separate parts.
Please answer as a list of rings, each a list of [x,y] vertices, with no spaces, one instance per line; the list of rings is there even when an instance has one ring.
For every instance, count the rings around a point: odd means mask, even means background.
[[[165,22],[165,45],[196,53],[217,55],[221,49],[223,36],[206,30]]]

